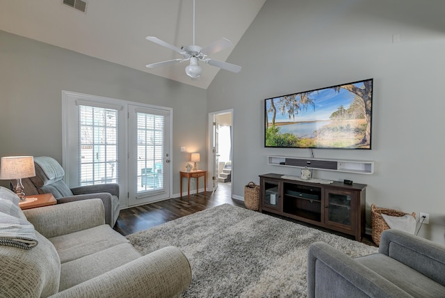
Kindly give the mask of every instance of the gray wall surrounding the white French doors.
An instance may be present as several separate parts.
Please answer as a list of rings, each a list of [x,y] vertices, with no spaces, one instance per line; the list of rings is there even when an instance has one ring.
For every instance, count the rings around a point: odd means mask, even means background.
[[[206,91],[0,31],[0,156],[62,162],[62,90],[173,109],[173,194],[190,152],[207,160]],[[188,152],[180,152],[186,146]],[[7,181],[0,181],[7,186]]]

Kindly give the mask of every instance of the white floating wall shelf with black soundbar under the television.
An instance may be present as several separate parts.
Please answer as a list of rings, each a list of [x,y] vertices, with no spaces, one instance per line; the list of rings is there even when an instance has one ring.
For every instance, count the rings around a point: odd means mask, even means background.
[[[373,174],[374,162],[369,160],[320,159],[307,157],[268,156],[267,164],[313,168],[322,171],[336,171],[356,174]]]

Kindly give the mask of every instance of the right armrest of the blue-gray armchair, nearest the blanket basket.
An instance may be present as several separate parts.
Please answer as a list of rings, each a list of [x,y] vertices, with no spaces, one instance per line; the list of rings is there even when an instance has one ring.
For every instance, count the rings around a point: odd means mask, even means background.
[[[389,229],[382,233],[379,253],[398,260],[429,279],[445,285],[445,246],[405,233]]]

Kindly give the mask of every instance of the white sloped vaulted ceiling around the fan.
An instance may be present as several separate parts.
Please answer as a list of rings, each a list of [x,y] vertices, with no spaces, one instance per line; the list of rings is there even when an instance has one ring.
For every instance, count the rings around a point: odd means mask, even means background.
[[[182,58],[146,36],[177,47],[193,43],[193,0],[86,1],[86,13],[81,13],[62,0],[0,0],[0,30],[200,88],[207,88],[218,71],[226,71],[202,65],[200,79],[192,80],[184,71],[187,63],[145,68]],[[264,2],[196,0],[195,43],[204,47],[224,37],[236,45]],[[232,49],[211,58],[226,61]]]

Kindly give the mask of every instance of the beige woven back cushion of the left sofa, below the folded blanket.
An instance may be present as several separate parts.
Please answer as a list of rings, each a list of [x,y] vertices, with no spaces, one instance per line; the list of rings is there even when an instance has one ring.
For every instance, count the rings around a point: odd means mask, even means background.
[[[49,240],[35,232],[39,245],[24,250],[0,246],[0,296],[48,297],[58,292],[60,260]]]

